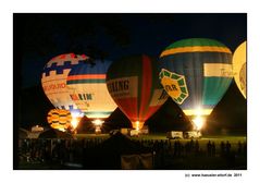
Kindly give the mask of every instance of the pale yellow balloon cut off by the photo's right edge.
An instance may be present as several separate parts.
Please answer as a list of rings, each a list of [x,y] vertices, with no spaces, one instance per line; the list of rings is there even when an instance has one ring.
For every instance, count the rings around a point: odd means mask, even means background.
[[[239,45],[233,54],[233,73],[237,87],[247,98],[247,41]]]

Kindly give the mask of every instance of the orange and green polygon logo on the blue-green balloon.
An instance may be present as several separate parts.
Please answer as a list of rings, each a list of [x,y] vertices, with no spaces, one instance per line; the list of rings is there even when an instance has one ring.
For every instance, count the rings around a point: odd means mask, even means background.
[[[178,105],[182,105],[188,97],[188,89],[183,75],[162,69],[159,78],[161,80],[163,88]]]

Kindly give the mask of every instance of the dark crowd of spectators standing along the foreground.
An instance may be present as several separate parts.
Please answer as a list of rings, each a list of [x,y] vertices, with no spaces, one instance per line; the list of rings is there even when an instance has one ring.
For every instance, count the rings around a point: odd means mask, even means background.
[[[98,146],[102,145],[106,138],[83,138],[83,139],[20,139],[18,161],[23,163],[58,163],[77,164],[84,169],[88,161],[89,154],[95,154]],[[160,169],[171,163],[170,160],[177,160],[186,157],[222,158],[233,159],[247,156],[246,142],[231,144],[227,142],[216,143],[209,141],[200,143],[197,139],[132,139],[140,147],[148,148],[154,156],[154,169]],[[103,152],[106,154],[106,152]],[[170,160],[169,160],[170,159]],[[169,162],[168,162],[169,161]]]

